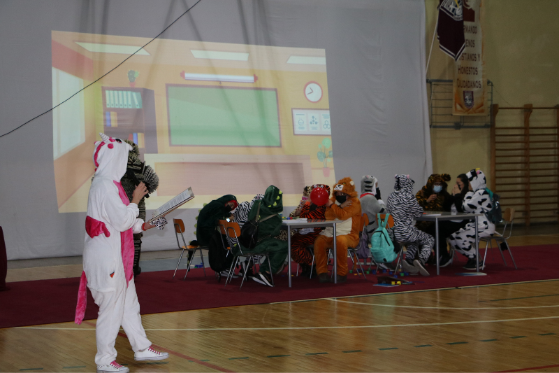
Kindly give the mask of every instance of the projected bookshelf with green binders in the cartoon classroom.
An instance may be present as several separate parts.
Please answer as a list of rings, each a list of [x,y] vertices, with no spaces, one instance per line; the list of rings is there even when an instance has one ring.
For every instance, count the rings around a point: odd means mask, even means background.
[[[103,124],[108,136],[130,139],[140,155],[157,153],[155,95],[135,87],[102,87]]]

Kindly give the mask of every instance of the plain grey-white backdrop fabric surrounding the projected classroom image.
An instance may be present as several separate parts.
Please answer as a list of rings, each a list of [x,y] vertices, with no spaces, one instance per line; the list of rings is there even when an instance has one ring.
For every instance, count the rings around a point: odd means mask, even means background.
[[[152,38],[194,3],[1,1],[0,134],[52,107],[52,31]],[[394,174],[410,174],[419,189],[431,173],[423,0],[202,0],[161,38],[324,49],[335,177],[359,185],[376,176],[386,199]],[[82,253],[85,213],[58,211],[52,126],[48,113],[0,138],[8,260]],[[194,226],[197,215],[181,209],[173,217]],[[172,227],[143,238],[143,251],[170,248]]]

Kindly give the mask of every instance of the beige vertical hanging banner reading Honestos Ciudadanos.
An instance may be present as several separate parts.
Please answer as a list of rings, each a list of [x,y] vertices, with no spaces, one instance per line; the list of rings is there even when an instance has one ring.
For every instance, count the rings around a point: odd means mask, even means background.
[[[487,115],[485,106],[484,39],[481,0],[463,0],[465,48],[456,61],[453,115]]]

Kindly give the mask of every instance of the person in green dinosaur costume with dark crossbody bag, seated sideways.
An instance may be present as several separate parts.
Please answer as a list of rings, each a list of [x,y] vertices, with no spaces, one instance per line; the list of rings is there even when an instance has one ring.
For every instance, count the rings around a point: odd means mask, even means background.
[[[288,250],[286,241],[275,238],[279,236],[279,231],[282,227],[282,218],[279,216],[279,213],[282,213],[284,210],[282,191],[274,185],[270,185],[268,189],[266,189],[266,193],[264,193],[264,198],[261,201],[254,202],[252,205],[248,221],[256,219],[256,211],[258,211],[259,206],[259,220],[263,220],[258,226],[259,243],[252,250],[242,248],[242,251],[250,253],[269,253],[270,265],[268,265],[268,259],[266,259],[260,265],[260,273],[253,276],[252,279],[263,285],[273,286],[270,267],[274,274],[281,272],[284,268]],[[268,218],[269,216],[273,217]],[[233,252],[235,252],[235,250],[238,250],[238,246],[233,248]]]

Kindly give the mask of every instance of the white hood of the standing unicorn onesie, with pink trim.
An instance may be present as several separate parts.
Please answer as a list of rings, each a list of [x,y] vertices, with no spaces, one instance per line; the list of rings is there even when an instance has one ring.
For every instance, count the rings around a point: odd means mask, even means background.
[[[110,178],[120,182],[122,176],[126,174],[128,152],[132,147],[121,139],[113,139],[101,132],[99,136],[101,141],[95,141],[93,152],[93,162],[96,167],[94,177]]]

